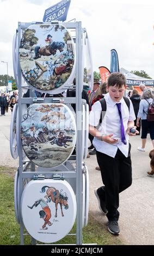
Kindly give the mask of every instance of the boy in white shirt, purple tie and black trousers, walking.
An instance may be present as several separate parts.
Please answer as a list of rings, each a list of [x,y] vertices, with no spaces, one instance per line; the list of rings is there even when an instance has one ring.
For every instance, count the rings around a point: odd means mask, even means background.
[[[89,115],[89,132],[94,136],[97,162],[101,169],[104,186],[95,190],[100,210],[108,218],[108,230],[119,235],[119,193],[132,184],[132,166],[128,135],[134,136],[137,130],[130,132],[134,126],[135,114],[130,100],[129,106],[123,96],[126,90],[126,78],[120,72],[110,74],[107,83],[108,93],[106,114],[99,124],[102,106],[97,101]],[[136,127],[135,127],[136,128]]]

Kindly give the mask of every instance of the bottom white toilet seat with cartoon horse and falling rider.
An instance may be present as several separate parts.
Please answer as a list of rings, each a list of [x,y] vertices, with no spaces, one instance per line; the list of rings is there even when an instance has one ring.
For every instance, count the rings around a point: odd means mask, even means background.
[[[34,239],[56,242],[75,223],[76,197],[65,180],[33,180],[22,193],[21,212],[24,227]]]

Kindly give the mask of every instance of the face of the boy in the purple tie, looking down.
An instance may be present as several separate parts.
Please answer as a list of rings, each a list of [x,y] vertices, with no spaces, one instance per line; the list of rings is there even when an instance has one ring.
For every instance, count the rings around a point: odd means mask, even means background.
[[[113,101],[119,102],[122,97],[124,96],[126,86],[123,84],[121,88],[118,88],[116,85],[115,86],[107,86],[109,96]]]

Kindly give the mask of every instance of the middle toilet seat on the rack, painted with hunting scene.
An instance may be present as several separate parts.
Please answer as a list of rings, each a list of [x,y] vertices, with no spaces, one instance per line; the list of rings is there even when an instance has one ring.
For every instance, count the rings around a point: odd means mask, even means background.
[[[69,107],[62,103],[30,105],[23,113],[21,141],[28,159],[37,166],[64,163],[76,144],[76,121]]]

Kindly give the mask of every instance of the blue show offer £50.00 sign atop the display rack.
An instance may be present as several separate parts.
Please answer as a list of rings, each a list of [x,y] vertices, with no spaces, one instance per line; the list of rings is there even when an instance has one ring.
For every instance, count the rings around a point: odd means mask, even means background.
[[[45,10],[43,22],[65,21],[71,0],[62,0]]]

